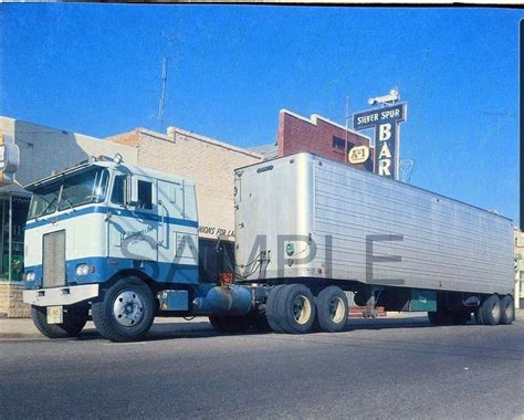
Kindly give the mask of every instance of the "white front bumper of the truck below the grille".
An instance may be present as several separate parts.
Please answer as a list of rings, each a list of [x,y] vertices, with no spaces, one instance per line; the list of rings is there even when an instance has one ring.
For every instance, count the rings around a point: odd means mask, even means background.
[[[98,284],[23,291],[23,302],[35,306],[72,305],[98,296]]]

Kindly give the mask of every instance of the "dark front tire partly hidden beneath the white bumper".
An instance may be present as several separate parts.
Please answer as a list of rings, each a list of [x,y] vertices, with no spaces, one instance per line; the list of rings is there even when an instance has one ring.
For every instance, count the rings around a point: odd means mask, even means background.
[[[48,308],[31,306],[33,324],[40,333],[49,338],[76,337],[87,323],[90,307],[87,305],[73,305],[64,307],[63,324],[48,324]]]

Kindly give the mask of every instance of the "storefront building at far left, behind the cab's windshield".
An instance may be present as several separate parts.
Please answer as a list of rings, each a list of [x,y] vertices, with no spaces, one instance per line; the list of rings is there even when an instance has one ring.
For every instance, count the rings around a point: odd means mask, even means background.
[[[0,133],[14,140],[20,149],[17,183],[0,187],[0,316],[29,316],[21,303],[23,274],[23,227],[30,193],[22,186],[88,159],[119,153],[137,164],[137,150],[64,129],[51,128],[0,116]]]

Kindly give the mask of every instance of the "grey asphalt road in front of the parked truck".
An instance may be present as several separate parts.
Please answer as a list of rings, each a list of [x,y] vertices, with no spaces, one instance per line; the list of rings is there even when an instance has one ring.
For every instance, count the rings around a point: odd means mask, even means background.
[[[524,418],[524,321],[347,332],[214,334],[156,325],[148,342],[0,340],[0,418]]]

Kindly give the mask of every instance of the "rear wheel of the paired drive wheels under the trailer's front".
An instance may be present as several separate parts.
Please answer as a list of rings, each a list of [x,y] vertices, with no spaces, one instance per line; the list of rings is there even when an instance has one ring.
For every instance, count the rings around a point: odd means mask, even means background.
[[[316,319],[321,330],[338,333],[346,327],[349,305],[344,291],[337,286],[324,288],[316,297]]]

